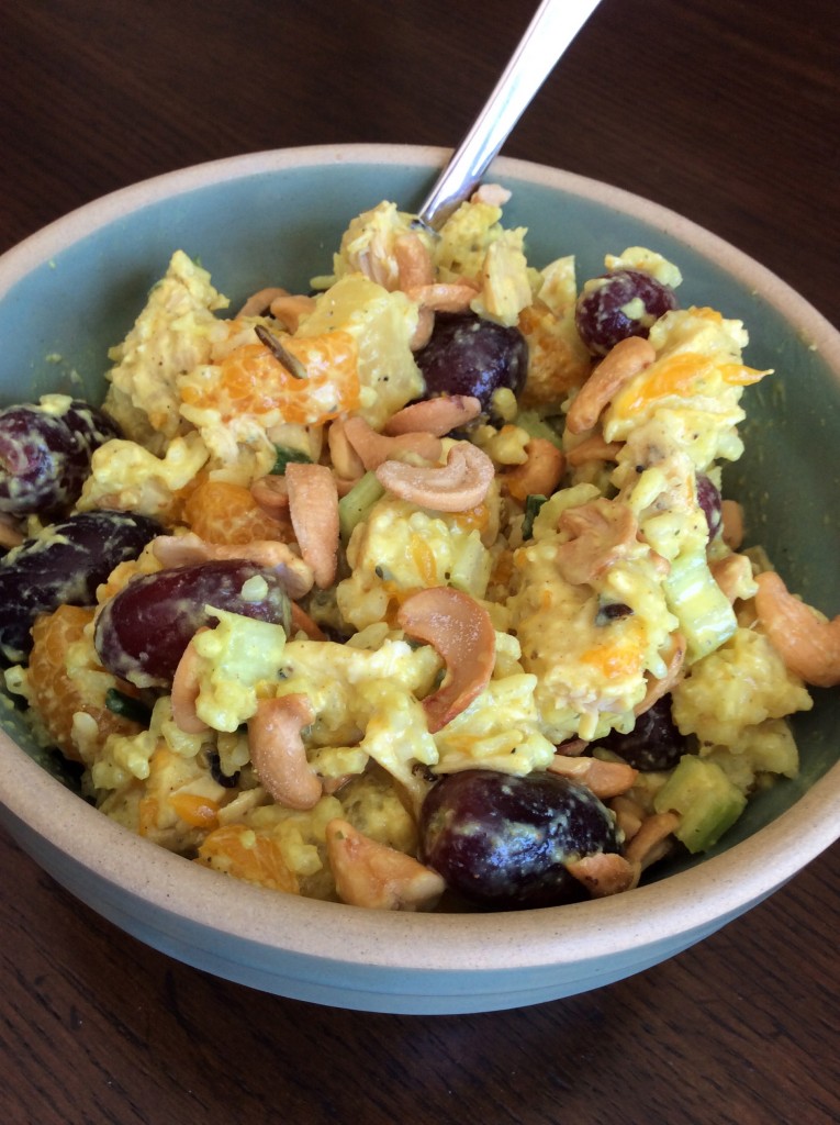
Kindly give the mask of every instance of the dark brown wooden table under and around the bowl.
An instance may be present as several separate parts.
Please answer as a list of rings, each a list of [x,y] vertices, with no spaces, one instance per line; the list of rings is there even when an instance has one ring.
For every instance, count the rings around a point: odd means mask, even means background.
[[[0,250],[205,160],[453,145],[534,8],[4,3]],[[681,212],[840,323],[839,28],[836,0],[604,0],[505,152]],[[840,1119],[837,848],[643,975],[441,1018],[323,1009],[215,980],[94,916],[4,836],[0,850],[10,1125]]]

